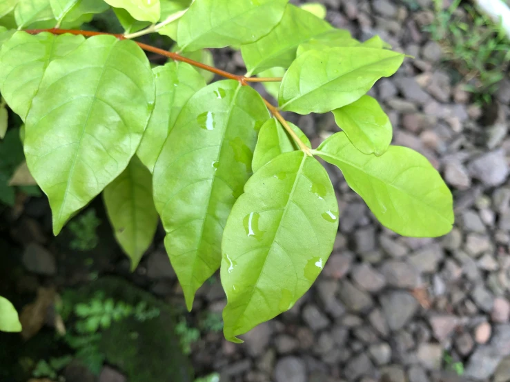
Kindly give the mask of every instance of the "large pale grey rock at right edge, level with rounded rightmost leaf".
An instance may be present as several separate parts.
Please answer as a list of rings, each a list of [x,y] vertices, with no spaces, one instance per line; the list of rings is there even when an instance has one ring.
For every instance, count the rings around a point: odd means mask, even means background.
[[[503,150],[483,154],[468,166],[471,177],[489,187],[501,185],[507,179],[509,166]]]

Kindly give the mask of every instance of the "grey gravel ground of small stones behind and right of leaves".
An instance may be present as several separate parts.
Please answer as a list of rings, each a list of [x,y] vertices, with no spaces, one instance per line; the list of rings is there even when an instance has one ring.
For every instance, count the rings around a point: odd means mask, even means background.
[[[371,93],[393,121],[393,143],[424,154],[453,190],[455,228],[442,239],[399,237],[329,168],[342,214],[324,272],[244,345],[221,334],[203,339],[193,353],[197,370],[246,382],[509,381],[510,81],[486,108],[452,85],[440,46],[422,32],[431,0],[415,1],[418,11],[411,1],[323,3],[334,26],[362,40],[380,34],[415,57]],[[243,70],[237,53],[224,67]],[[316,145],[337,131],[331,114],[295,122]],[[219,284],[201,297],[202,309],[224,305]]]

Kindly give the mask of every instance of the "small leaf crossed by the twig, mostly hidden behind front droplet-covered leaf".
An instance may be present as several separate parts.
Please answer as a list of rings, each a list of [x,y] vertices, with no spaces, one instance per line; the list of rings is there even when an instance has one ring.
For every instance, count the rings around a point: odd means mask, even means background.
[[[308,137],[293,123],[288,122],[292,130],[297,134],[297,137],[304,142],[308,148],[312,148]],[[278,157],[284,152],[291,152],[300,150],[297,143],[292,139],[290,135],[285,131],[283,126],[276,120],[270,119],[259,132],[259,140],[253,153],[252,168],[253,172],[257,172],[259,168],[262,168],[266,163]]]

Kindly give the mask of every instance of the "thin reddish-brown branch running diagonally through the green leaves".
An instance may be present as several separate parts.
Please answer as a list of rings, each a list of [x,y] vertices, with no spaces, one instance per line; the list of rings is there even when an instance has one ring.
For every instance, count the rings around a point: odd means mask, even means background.
[[[89,30],[32,29],[32,30],[25,30],[25,32],[30,33],[30,34],[38,34],[41,32],[50,32],[53,34],[70,33],[70,34],[81,34],[82,36],[86,36],[86,37],[99,36],[102,34],[106,34],[109,36],[117,37],[117,39],[120,39],[120,40],[126,39],[126,36],[124,36],[124,34],[92,32]],[[195,66],[196,68],[207,70],[208,72],[218,74],[219,76],[225,77],[227,79],[233,79],[235,81],[239,81],[239,83],[241,83],[243,86],[247,86],[249,82],[279,82],[279,81],[282,81],[281,78],[276,78],[276,77],[275,78],[255,78],[255,77],[239,76],[237,74],[232,74],[232,73],[226,72],[225,70],[213,68],[213,66],[208,66],[204,63],[201,63],[201,62],[198,62],[198,61],[195,61],[192,59],[188,59],[187,57],[181,56],[180,54],[177,54],[174,52],[168,52],[167,50],[156,48],[155,46],[150,46],[145,43],[139,43],[137,41],[134,41],[134,42],[137,43],[137,45],[141,49],[145,50],[146,52],[153,52],[156,54],[161,54],[162,56],[168,57],[175,61],[189,63],[190,65]],[[273,114],[273,116],[279,121],[279,123],[282,124],[284,129],[288,132],[288,134],[291,135],[291,137],[294,139],[294,141],[297,143],[297,145],[300,146],[300,150],[302,150],[303,152],[305,152],[305,154],[312,157],[313,154],[312,154],[311,150],[304,144],[304,142],[300,139],[300,137],[297,137],[297,134],[294,132],[294,130],[292,130],[291,126],[288,125],[287,121],[284,119],[282,114],[280,114],[278,108],[271,105],[271,103],[269,103],[269,101],[267,101],[266,99],[264,99],[264,98],[262,98],[262,99],[264,100],[264,103],[266,103],[266,106],[269,109],[269,111],[271,111],[271,114]]]

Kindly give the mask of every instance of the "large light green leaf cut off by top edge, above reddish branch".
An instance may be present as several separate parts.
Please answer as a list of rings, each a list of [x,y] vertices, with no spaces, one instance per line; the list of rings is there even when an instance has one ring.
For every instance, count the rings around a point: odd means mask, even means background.
[[[199,0],[179,21],[185,52],[253,43],[282,19],[288,0]]]

